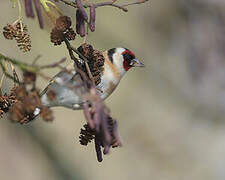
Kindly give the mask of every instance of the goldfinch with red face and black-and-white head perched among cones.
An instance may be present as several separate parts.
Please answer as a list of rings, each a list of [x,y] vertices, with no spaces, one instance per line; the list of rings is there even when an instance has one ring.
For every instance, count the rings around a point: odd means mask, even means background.
[[[127,48],[117,47],[103,52],[104,65],[101,74],[101,81],[96,86],[99,90],[100,98],[108,98],[118,86],[121,78],[133,67],[144,67],[135,54]],[[78,84],[78,73],[75,72],[74,63],[66,67],[66,71],[60,71],[50,81],[41,95],[41,102],[47,107],[62,106],[73,110],[82,109],[83,99],[76,91],[69,88]],[[53,91],[55,98],[49,100],[48,93]],[[38,114],[37,110],[35,114]]]

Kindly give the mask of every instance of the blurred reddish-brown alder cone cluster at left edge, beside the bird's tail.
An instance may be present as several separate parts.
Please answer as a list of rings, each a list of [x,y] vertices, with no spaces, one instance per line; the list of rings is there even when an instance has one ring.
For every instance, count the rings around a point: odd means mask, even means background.
[[[9,112],[9,118],[20,124],[28,123],[34,119],[34,111],[40,109],[40,116],[45,121],[52,121],[52,111],[42,105],[39,91],[33,86],[36,75],[32,72],[24,72],[24,80],[20,85],[14,83],[9,95],[0,95],[0,115]]]

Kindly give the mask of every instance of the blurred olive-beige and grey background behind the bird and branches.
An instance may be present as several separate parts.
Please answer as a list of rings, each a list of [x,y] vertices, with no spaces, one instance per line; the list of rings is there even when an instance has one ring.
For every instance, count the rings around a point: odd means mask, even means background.
[[[125,2],[123,0],[119,2]],[[61,4],[61,3],[58,3]],[[75,20],[75,11],[59,8]],[[18,16],[0,2],[0,29]],[[32,51],[24,55],[0,36],[0,52],[47,64],[69,56],[24,18]],[[83,39],[76,38],[74,46]],[[150,0],[119,9],[97,9],[96,31],[87,41],[106,50],[124,46],[146,67],[132,69],[107,99],[119,122],[123,147],[102,163],[93,144],[79,144],[82,111],[54,108],[52,123],[25,126],[0,121],[0,179],[4,180],[224,180],[225,179],[225,0]],[[46,73],[53,76],[57,69]],[[40,79],[40,88],[47,84]],[[7,91],[12,86],[4,82]]]

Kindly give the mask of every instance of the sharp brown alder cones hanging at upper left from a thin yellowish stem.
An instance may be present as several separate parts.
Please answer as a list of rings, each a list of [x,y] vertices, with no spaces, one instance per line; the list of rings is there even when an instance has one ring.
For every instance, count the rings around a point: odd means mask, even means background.
[[[20,50],[23,52],[31,50],[31,41],[30,36],[27,34],[27,26],[25,26],[21,21],[12,25],[7,24],[3,30],[4,37],[9,40],[15,39]]]

